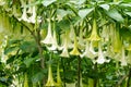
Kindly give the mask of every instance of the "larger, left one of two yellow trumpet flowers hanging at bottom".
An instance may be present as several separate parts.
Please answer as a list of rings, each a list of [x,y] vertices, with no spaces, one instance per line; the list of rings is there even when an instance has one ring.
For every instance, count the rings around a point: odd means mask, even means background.
[[[51,65],[50,64],[49,64],[49,67],[48,67],[48,79],[47,79],[46,86],[47,87],[56,86],[56,83],[55,83],[53,77],[52,77],[52,71],[51,71]]]

